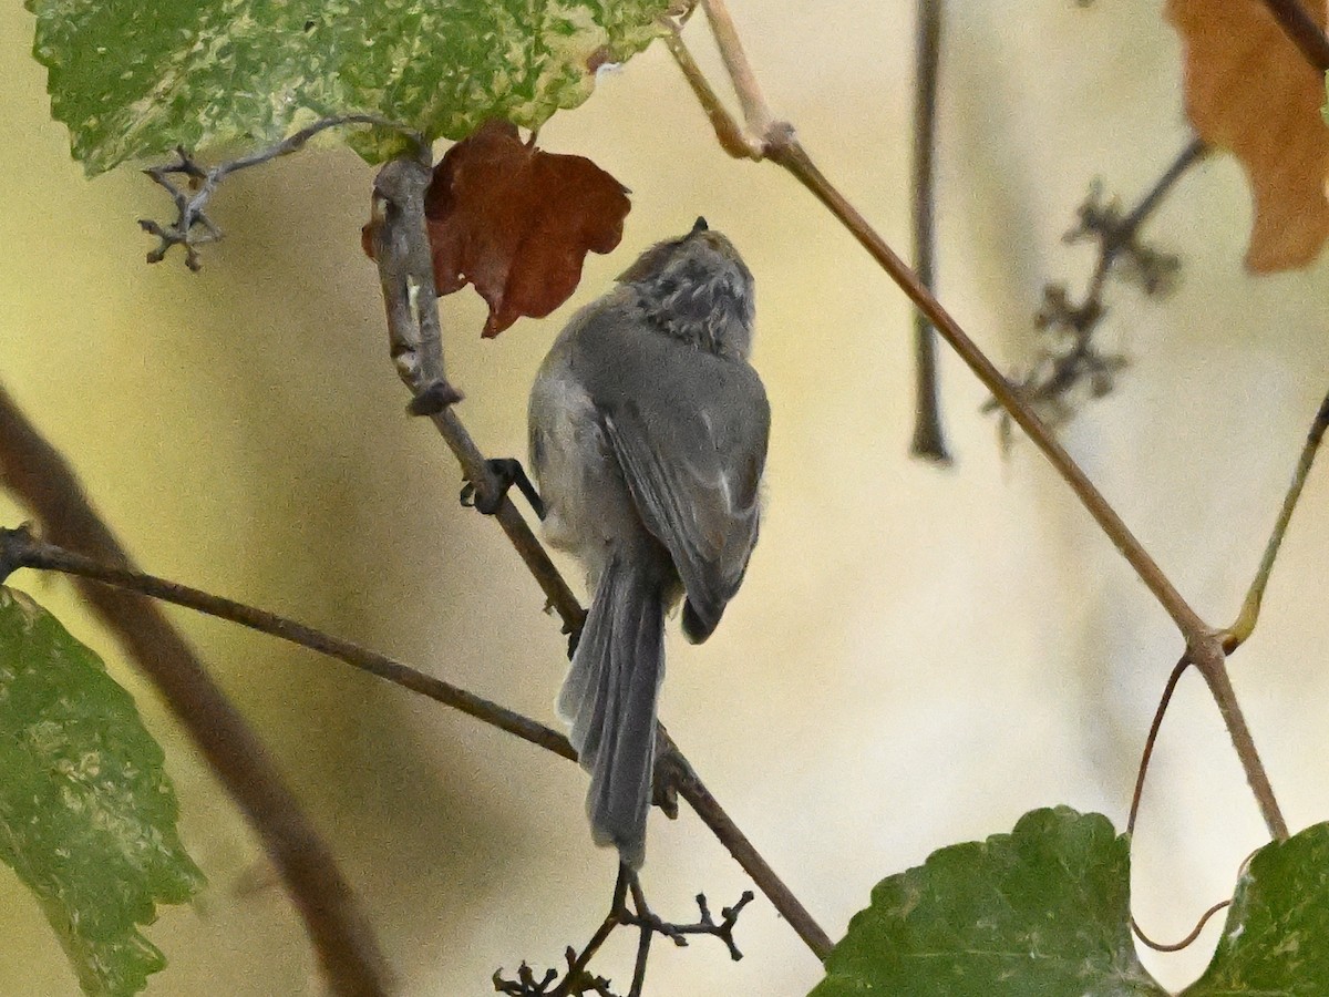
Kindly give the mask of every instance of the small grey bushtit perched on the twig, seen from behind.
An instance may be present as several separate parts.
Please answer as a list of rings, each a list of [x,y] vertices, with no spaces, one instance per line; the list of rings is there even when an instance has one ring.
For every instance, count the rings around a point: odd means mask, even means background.
[[[558,713],[590,772],[597,844],[639,868],[664,675],[664,614],[700,643],[756,544],[771,409],[752,344],[752,274],[696,226],[653,246],[577,312],[530,392],[545,533],[594,593]]]

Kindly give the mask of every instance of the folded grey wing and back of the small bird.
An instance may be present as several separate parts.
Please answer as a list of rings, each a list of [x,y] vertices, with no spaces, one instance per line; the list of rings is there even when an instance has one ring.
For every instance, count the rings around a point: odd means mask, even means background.
[[[622,319],[587,322],[573,366],[642,521],[683,580],[684,631],[703,641],[756,544],[771,409],[746,363]]]

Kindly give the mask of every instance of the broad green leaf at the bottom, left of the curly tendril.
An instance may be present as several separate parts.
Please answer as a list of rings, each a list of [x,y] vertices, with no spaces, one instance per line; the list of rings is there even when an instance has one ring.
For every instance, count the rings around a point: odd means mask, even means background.
[[[1130,845],[1107,818],[1026,814],[882,880],[813,997],[1166,997],[1135,957]]]

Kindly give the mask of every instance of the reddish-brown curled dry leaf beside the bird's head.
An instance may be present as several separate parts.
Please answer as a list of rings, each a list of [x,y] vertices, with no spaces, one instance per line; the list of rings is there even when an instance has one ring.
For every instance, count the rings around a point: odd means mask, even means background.
[[[590,160],[541,152],[489,121],[448,150],[425,194],[439,294],[474,284],[489,303],[485,338],[548,315],[577,288],[586,253],[623,238],[630,207]]]

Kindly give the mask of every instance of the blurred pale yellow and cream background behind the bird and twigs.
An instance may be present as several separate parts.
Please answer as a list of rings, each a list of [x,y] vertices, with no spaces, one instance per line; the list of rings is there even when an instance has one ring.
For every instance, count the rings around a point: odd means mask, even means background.
[[[777,113],[889,241],[906,247],[912,3],[734,0]],[[1134,201],[1188,140],[1179,47],[1155,4],[949,4],[941,296],[1003,367],[1027,356],[1045,279],[1090,181]],[[694,28],[692,37],[700,39]],[[148,267],[134,221],[166,203],[133,170],[88,182],[47,114],[31,17],[0,11],[0,378],[81,471],[150,570],[256,602],[552,719],[563,639],[501,533],[459,508],[459,473],[403,415],[375,273],[360,255],[372,170],[312,150],[227,181],[199,275]],[[700,47],[699,48],[704,48]],[[703,52],[706,65],[716,62]],[[839,937],[873,883],[933,848],[1069,803],[1124,824],[1139,747],[1180,649],[1163,613],[1029,445],[1003,459],[985,392],[948,354],[952,471],[906,459],[909,311],[851,238],[772,166],[716,148],[662,51],[609,76],[541,145],[634,190],[622,247],[545,322],[481,343],[445,300],[448,358],[481,447],[521,453],[525,392],[573,308],[650,242],[706,214],[758,277],[756,366],[775,429],[768,516],[742,596],[704,647],[671,634],[663,718],[739,824]],[[1235,164],[1188,175],[1147,230],[1184,261],[1167,303],[1110,291],[1132,367],[1066,443],[1211,621],[1235,611],[1329,383],[1325,267],[1253,280]],[[1324,762],[1329,471],[1293,524],[1235,681],[1293,827],[1329,816]],[[0,518],[23,510],[0,498]],[[152,928],[149,993],[316,993],[254,839],[153,691],[57,580],[15,582],[108,655],[157,735],[211,885]],[[587,843],[573,767],[441,707],[230,625],[178,614],[280,760],[359,889],[408,994],[490,992],[498,966],[561,960],[603,916],[610,855]],[[1135,844],[1135,911],[1184,935],[1263,840],[1216,711],[1187,679]],[[258,869],[258,872],[255,872]],[[748,883],[699,823],[653,818],[646,885]],[[8,872],[0,992],[73,994]],[[1180,984],[1207,960],[1151,957]],[[799,994],[817,964],[764,900],[730,964],[657,945],[647,992]],[[601,972],[626,982],[627,940]]]

